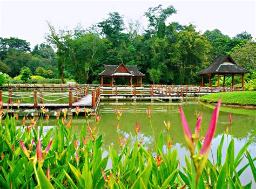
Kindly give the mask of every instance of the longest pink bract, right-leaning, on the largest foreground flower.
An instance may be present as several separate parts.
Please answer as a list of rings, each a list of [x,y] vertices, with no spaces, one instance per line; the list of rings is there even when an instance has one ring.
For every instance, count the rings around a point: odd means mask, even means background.
[[[205,135],[205,139],[204,139],[204,144],[199,152],[200,155],[203,155],[204,157],[208,156],[208,153],[211,149],[211,145],[212,145],[212,139],[215,133],[215,129],[217,126],[217,121],[218,121],[218,116],[219,116],[219,110],[220,110],[220,101],[221,99],[219,99],[216,108],[213,111],[212,114],[212,118],[210,121],[210,125],[207,129],[206,135]]]

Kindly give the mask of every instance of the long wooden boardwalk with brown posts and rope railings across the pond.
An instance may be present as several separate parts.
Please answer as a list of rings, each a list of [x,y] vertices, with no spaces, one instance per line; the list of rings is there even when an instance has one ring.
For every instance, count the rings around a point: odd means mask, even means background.
[[[25,91],[24,91],[25,90]],[[53,92],[53,90],[55,90]],[[62,91],[60,91],[62,90]],[[210,93],[240,91],[239,87],[200,87],[144,85],[143,87],[95,85],[16,85],[0,88],[0,102],[4,108],[90,108],[97,111],[100,99],[134,100],[183,100],[184,97],[198,97]]]

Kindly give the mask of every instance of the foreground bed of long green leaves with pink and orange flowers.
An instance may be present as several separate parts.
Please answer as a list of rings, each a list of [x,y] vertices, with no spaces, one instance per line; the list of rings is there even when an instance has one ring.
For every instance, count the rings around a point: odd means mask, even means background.
[[[23,124],[17,125],[18,115],[6,115],[0,103],[0,184],[3,188],[251,188],[252,182],[241,185],[239,176],[247,167],[251,167],[254,181],[256,179],[254,160],[247,151],[247,142],[234,156],[234,139],[227,148],[224,163],[221,161],[225,134],[218,146],[217,161],[208,158],[211,142],[217,125],[220,102],[215,108],[205,138],[200,136],[202,115],[197,115],[195,134],[186,123],[180,108],[181,121],[191,157],[185,156],[186,166],[180,165],[178,151],[172,146],[173,140],[163,134],[158,141],[154,139],[155,151],[146,149],[142,140],[131,142],[131,137],[120,136],[119,124],[123,111],[116,111],[117,140],[119,148],[109,147],[108,154],[102,148],[102,135],[98,136],[98,123],[101,116],[96,116],[95,125],[87,121],[89,113],[85,110],[85,123],[77,136],[73,133],[75,125],[72,118],[68,120],[66,110],[61,117],[57,112],[55,128],[46,134],[43,132],[42,120],[49,119],[44,107],[39,120],[35,117],[23,118]],[[76,116],[79,114],[76,108]],[[147,110],[151,124],[150,110]],[[230,127],[232,130],[231,114]],[[171,132],[171,122],[164,122],[166,131]],[[16,127],[19,126],[19,127]],[[136,123],[136,136],[142,125]],[[152,129],[153,132],[153,129]],[[114,136],[114,134],[113,134]],[[241,160],[248,163],[238,167]],[[109,165],[111,162],[111,166]]]

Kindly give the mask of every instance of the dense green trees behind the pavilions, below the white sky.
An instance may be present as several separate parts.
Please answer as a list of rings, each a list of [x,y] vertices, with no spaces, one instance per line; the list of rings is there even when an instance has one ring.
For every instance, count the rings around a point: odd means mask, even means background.
[[[11,77],[28,67],[44,78],[73,79],[78,83],[99,83],[104,64],[137,65],[145,73],[144,83],[197,84],[201,69],[220,55],[230,54],[235,62],[255,70],[255,41],[243,31],[231,38],[220,30],[197,30],[193,24],[167,23],[173,6],[149,8],[143,29],[139,20],[128,20],[118,12],[91,27],[78,25],[59,30],[48,22],[45,43],[30,49],[30,43],[15,37],[0,38],[0,72]]]

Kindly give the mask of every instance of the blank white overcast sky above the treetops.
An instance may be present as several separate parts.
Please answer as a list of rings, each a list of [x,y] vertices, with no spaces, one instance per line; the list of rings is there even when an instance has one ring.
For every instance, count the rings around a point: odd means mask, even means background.
[[[45,42],[46,20],[56,29],[84,27],[119,12],[124,20],[140,19],[150,7],[173,5],[177,13],[168,22],[193,23],[197,30],[219,29],[230,37],[247,31],[256,37],[255,1],[3,1],[0,0],[0,37],[26,39],[31,47]]]

